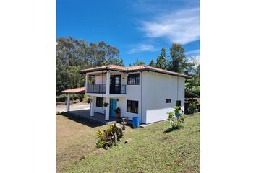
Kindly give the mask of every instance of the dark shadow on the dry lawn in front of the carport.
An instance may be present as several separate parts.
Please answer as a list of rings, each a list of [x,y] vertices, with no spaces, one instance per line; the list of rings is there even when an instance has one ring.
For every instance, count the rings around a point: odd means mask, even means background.
[[[85,118],[78,117],[77,115],[72,115],[72,114],[67,113],[67,112],[62,112],[60,114],[57,114],[57,116],[67,117],[67,118],[69,118],[69,120],[73,120],[73,121],[75,121],[77,123],[81,123],[82,125],[87,125],[87,126],[89,126],[91,128],[95,128],[95,127],[99,127],[99,126],[104,125],[102,123],[90,121],[90,120],[87,120]]]

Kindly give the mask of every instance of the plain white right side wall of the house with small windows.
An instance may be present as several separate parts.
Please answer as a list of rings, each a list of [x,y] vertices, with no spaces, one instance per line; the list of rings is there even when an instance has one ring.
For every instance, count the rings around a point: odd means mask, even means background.
[[[171,107],[176,105],[176,100],[182,101],[184,110],[184,78],[153,72],[148,72],[142,77],[146,80],[142,88],[146,123],[166,120],[166,112],[171,111]],[[166,99],[171,99],[171,103],[166,103]]]

